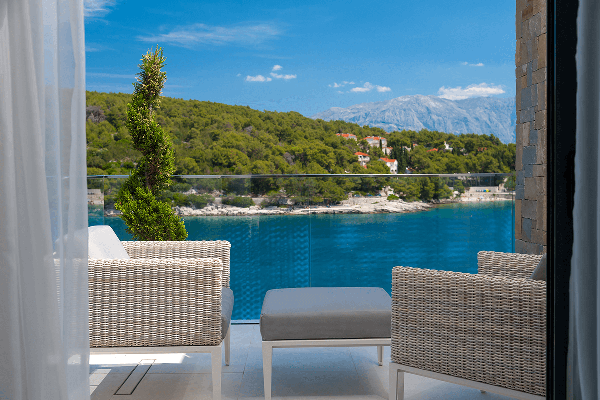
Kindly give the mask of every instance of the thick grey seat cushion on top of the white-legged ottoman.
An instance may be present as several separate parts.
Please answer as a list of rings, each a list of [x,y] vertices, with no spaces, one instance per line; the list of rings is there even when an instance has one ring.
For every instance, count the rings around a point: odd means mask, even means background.
[[[382,288],[269,290],[260,314],[263,340],[390,338],[392,299]]]

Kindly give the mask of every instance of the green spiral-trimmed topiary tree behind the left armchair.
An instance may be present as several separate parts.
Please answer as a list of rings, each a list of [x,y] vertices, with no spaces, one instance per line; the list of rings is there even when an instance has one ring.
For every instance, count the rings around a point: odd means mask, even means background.
[[[138,65],[137,82],[131,103],[127,104],[127,129],[133,148],[142,159],[133,170],[115,201],[116,209],[136,240],[185,240],[187,231],[170,203],[157,196],[168,189],[175,172],[175,152],[169,136],[155,121],[167,74],[163,49],[148,50]]]

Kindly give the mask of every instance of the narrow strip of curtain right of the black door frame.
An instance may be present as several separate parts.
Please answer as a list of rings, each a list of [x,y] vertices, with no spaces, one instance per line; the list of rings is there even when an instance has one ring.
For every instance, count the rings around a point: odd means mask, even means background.
[[[600,2],[580,0],[577,18],[577,148],[571,261],[569,398],[600,395]]]

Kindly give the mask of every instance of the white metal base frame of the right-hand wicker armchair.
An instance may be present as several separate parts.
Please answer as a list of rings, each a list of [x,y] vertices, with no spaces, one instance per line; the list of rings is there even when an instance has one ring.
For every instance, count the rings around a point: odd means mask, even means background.
[[[404,400],[404,373],[419,375],[438,381],[454,383],[460,386],[472,387],[482,392],[495,393],[496,395],[508,396],[518,400],[545,400],[544,396],[532,395],[518,390],[506,389],[487,383],[470,381],[452,375],[440,374],[439,372],[425,371],[412,366],[400,365],[395,362],[389,363],[389,400]],[[395,393],[395,395],[394,395]]]

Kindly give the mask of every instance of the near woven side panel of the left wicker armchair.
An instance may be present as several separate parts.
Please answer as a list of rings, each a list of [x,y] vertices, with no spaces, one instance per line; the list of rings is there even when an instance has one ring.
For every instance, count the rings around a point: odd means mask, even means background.
[[[221,343],[217,258],[88,260],[90,347]]]

